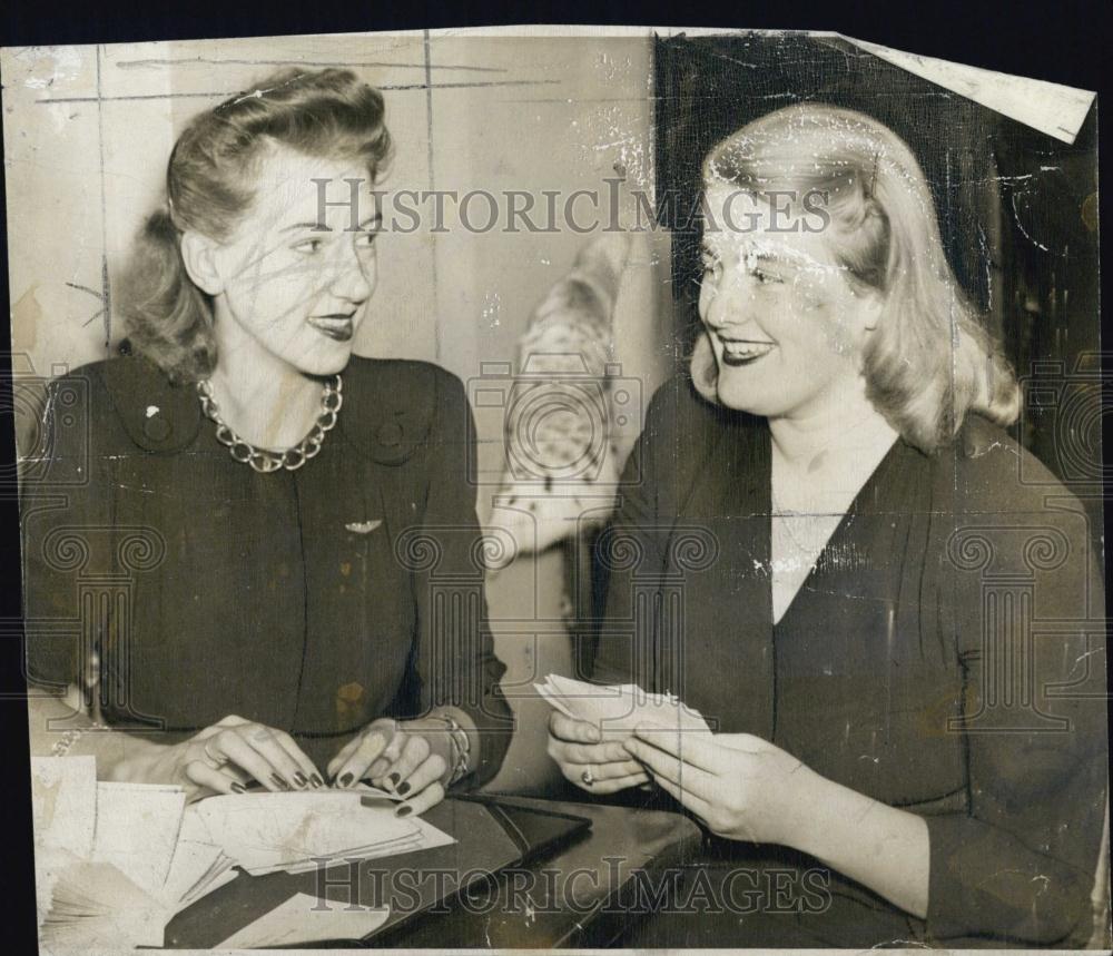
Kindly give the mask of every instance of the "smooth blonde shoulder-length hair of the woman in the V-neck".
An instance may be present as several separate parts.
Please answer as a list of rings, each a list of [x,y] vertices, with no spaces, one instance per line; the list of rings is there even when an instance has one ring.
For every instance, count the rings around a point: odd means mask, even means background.
[[[874,406],[907,442],[932,453],[954,438],[967,412],[1002,425],[1016,420],[1013,369],[955,279],[924,174],[890,129],[847,109],[790,106],[716,146],[703,179],[755,194],[786,190],[797,209],[810,194],[811,209],[826,211],[824,233],[838,264],[885,297],[863,371]],[[706,331],[691,375],[717,402]]]

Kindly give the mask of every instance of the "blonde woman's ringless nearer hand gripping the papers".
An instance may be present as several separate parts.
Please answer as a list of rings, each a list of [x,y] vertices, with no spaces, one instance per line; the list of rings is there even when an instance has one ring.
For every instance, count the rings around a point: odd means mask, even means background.
[[[720,837],[795,846],[823,778],[749,733],[678,733],[639,727],[629,755]]]

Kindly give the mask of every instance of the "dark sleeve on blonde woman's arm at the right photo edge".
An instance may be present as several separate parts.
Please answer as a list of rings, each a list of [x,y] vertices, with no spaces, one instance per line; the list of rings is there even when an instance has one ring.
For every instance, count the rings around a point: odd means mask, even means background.
[[[926,817],[927,928],[940,942],[1074,948],[1093,932],[1106,800],[1100,556],[1076,500],[1011,510],[1009,483],[1015,467],[993,511],[959,518],[946,559],[968,809]]]

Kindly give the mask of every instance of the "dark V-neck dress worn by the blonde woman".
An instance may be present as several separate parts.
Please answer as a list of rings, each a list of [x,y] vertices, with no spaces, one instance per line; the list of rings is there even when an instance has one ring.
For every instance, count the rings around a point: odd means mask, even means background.
[[[623,945],[1085,945],[1107,748],[1082,505],[984,420],[933,456],[898,441],[774,625],[769,476],[765,420],[682,380],[661,390],[599,543],[593,679],[676,693],[717,731],[924,816],[928,916],[708,835],[687,911],[632,916]]]

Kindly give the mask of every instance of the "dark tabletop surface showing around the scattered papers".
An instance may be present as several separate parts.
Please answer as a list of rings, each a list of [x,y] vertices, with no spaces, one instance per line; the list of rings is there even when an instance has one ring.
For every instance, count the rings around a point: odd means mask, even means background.
[[[662,810],[524,797],[499,797],[498,804],[585,818],[590,828],[554,848],[534,850],[519,863],[520,851],[482,804],[449,799],[430,810],[425,819],[454,836],[456,844],[366,861],[363,879],[348,884],[347,876],[329,877],[324,895],[344,901],[357,895],[361,903],[377,905],[383,890],[368,878],[372,871],[387,871],[390,879],[401,868],[418,875],[439,870],[451,874],[444,899],[437,901],[436,893],[430,896],[432,880],[421,887],[421,911],[405,911],[395,896],[385,928],[363,945],[601,946],[619,935],[631,901],[637,899],[639,881],[660,886],[659,875],[695,856],[700,841],[700,831],[691,820]],[[484,876],[492,871],[496,875]],[[465,888],[459,889],[456,881]],[[323,885],[318,874],[254,878],[240,874],[178,914],[167,927],[165,945],[214,947],[295,893],[319,895]],[[335,945],[357,944],[337,940]],[[306,944],[307,948],[324,946],[327,944]]]

